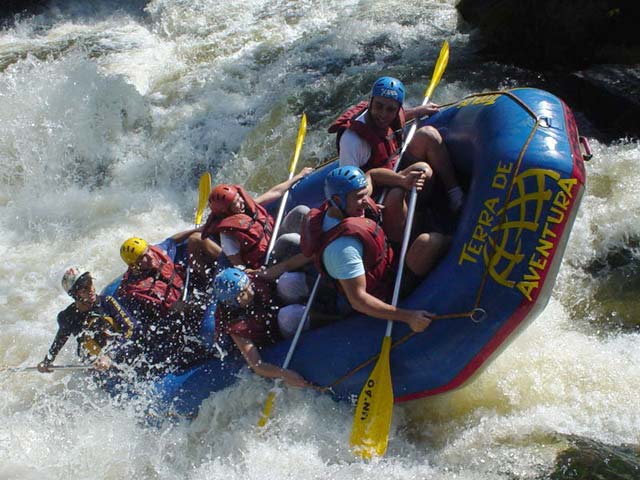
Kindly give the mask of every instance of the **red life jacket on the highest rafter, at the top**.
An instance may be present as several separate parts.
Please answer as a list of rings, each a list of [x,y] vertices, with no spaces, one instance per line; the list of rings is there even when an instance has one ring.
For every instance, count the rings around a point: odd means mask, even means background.
[[[365,114],[365,122],[357,118],[369,108],[369,102],[360,102],[344,112],[329,127],[329,133],[337,133],[336,144],[340,151],[340,138],[348,128],[358,134],[371,147],[371,157],[361,168],[365,172],[372,168],[385,167],[393,169],[397,159],[400,145],[402,145],[402,133],[405,125],[404,109],[400,107],[398,115],[386,129],[377,128],[371,120],[369,113]]]

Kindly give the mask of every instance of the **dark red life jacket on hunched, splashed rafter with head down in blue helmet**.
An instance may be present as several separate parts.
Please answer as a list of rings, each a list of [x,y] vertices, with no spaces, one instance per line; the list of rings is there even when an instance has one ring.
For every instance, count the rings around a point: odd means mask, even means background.
[[[253,284],[254,298],[247,307],[233,307],[222,302],[216,306],[216,332],[238,335],[258,346],[275,343],[280,336],[278,329],[279,303],[275,284],[256,279],[249,274]]]

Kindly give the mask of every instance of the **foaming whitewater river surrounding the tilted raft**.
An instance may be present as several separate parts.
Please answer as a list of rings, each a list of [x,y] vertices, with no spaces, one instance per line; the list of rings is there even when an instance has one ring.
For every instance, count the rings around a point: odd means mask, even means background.
[[[69,303],[64,267],[101,287],[125,238],[187,228],[204,171],[253,192],[284,179],[303,111],[301,163],[315,165],[334,154],[332,118],[379,74],[420,102],[445,39],[437,102],[537,81],[472,61],[454,3],[56,1],[1,30],[0,363],[42,359]],[[470,385],[397,406],[383,459],[355,459],[352,407],[313,392],[287,390],[258,433],[269,383],[253,375],[153,428],[82,372],[4,372],[0,479],[541,479],[572,445],[639,445],[640,146],[591,145],[548,307]]]

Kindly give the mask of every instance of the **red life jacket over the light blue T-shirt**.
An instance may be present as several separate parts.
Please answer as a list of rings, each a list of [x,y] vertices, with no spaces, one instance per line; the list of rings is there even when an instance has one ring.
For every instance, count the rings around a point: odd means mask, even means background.
[[[395,279],[393,249],[382,229],[380,209],[371,198],[367,199],[367,203],[364,217],[347,217],[326,232],[323,231],[322,223],[330,208],[329,202],[324,202],[319,209],[314,208],[302,226],[300,246],[305,256],[313,258],[318,271],[326,275],[322,254],[327,245],[339,237],[355,237],[363,247],[367,293],[388,301],[393,293]]]

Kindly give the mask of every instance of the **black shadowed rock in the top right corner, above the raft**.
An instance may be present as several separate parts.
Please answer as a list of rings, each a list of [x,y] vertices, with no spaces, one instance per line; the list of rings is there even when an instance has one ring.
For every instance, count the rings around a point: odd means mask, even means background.
[[[461,0],[485,56],[538,70],[640,63],[637,0]]]

